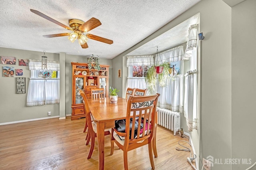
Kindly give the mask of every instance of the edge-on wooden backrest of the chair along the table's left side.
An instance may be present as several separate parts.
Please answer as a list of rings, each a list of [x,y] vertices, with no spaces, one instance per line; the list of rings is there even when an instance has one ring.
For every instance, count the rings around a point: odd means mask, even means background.
[[[83,101],[83,105],[84,105],[84,113],[85,113],[85,117],[86,117],[87,124],[88,124],[88,130],[91,134],[93,134],[94,131],[93,131],[93,128],[92,128],[91,112],[90,112],[87,97],[84,94],[84,91],[79,90],[79,93],[82,96],[82,101]]]

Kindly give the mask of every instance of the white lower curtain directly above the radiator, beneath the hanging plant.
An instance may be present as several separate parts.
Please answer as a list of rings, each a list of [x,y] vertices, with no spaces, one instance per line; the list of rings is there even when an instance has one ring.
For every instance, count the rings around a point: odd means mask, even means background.
[[[166,87],[157,87],[158,107],[183,112],[183,75],[169,76]]]

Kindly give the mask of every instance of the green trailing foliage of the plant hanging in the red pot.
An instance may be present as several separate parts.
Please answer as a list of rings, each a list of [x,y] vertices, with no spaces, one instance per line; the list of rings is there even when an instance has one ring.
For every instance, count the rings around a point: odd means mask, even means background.
[[[156,74],[155,66],[163,67],[163,72],[158,74],[158,76]],[[146,72],[145,80],[146,80],[146,85],[150,94],[155,93],[157,82],[160,85],[160,87],[166,86],[166,79],[169,76],[169,69],[170,69],[169,62],[164,62],[160,65],[152,65],[150,68],[148,68],[148,71]]]

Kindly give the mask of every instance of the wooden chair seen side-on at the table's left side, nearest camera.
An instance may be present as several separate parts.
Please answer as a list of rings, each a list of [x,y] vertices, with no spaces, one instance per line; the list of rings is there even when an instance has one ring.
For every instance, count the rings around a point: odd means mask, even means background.
[[[84,94],[84,91],[80,90],[79,93],[83,99],[84,113],[86,115],[87,125],[88,125],[88,139],[87,139],[86,145],[89,143],[89,141],[91,139],[90,151],[89,151],[89,154],[87,157],[87,159],[90,159],[92,156],[93,149],[94,149],[95,138],[97,137],[97,127],[96,127],[96,123],[94,121],[92,121],[92,119],[91,119],[90,108],[89,108],[89,104],[88,104],[86,95]],[[105,131],[104,135],[110,134],[110,129],[105,129],[104,131]],[[114,147],[114,142],[111,140],[111,138],[110,138],[110,143],[111,143],[111,148]]]

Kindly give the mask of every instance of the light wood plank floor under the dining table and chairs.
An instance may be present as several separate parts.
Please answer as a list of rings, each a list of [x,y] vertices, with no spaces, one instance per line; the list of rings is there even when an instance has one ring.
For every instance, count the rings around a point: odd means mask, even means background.
[[[67,117],[0,126],[0,170],[97,170],[97,140],[87,160],[90,143],[85,145],[84,123],[85,119],[71,121]],[[186,160],[190,152],[175,149],[182,148],[179,140],[188,141],[158,126],[156,170],[193,170]],[[148,146],[129,151],[128,166],[131,170],[150,170]],[[105,136],[105,170],[122,169],[123,151],[115,145],[110,156],[110,138]]]

